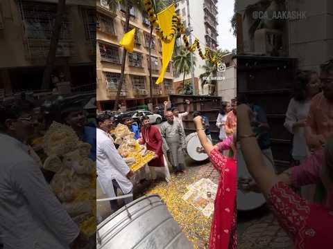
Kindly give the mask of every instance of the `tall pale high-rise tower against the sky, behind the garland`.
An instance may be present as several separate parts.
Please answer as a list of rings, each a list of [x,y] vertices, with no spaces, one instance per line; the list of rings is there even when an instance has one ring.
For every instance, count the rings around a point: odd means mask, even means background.
[[[189,15],[190,24],[192,28],[192,42],[194,37],[200,41],[200,46],[203,50],[208,47],[212,50],[216,50],[219,46],[217,41],[217,0],[188,0],[189,1]],[[182,17],[183,24],[185,27],[188,26],[188,12],[187,12],[187,1],[181,0],[176,3],[176,12]],[[178,39],[178,44],[182,41]],[[194,53],[196,57],[196,66],[194,67],[194,82],[195,86],[198,87],[199,93],[202,94],[200,74],[204,73],[202,66],[205,65],[205,60],[201,59],[196,51]],[[177,76],[177,77],[176,77]],[[175,75],[176,79],[174,82],[175,86],[182,84],[182,75]],[[185,76],[185,80],[191,79],[191,74]]]

